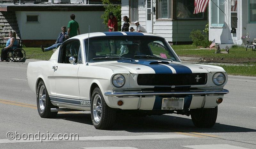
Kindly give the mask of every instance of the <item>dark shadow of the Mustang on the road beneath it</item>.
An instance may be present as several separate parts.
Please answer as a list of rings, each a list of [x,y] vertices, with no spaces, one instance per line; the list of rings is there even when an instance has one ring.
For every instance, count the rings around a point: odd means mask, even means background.
[[[58,114],[57,119],[92,125],[90,114]],[[153,116],[117,116],[115,125],[109,130],[124,130],[128,132],[256,132],[256,129],[216,123],[212,128],[197,128],[189,118],[172,115]]]

